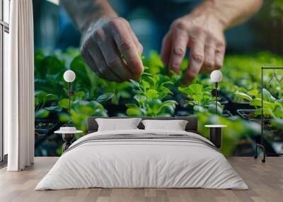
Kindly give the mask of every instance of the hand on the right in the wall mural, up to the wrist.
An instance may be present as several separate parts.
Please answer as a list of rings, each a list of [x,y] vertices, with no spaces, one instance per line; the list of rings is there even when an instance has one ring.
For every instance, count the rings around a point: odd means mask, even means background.
[[[200,71],[211,72],[223,66],[226,42],[224,27],[213,13],[192,13],[178,18],[163,39],[161,58],[179,73],[187,47],[190,59],[183,83],[190,83]]]

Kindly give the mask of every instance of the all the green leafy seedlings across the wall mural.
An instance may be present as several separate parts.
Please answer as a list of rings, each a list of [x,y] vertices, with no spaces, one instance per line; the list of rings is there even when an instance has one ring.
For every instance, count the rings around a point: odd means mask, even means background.
[[[35,118],[58,119],[62,122],[73,121],[78,129],[86,131],[86,120],[90,116],[107,117],[103,105],[126,105],[128,116],[168,117],[175,116],[175,107],[180,93],[187,97],[187,105],[194,109],[200,124],[200,132],[208,136],[204,124],[226,124],[221,150],[225,155],[233,154],[241,138],[249,138],[260,133],[259,124],[240,118],[227,119],[214,114],[215,98],[211,95],[213,85],[208,75],[200,74],[186,87],[180,87],[180,78],[187,69],[185,59],[180,75],[170,73],[158,53],[151,52],[149,58],[141,57],[144,73],[140,81],[115,83],[99,78],[83,61],[78,49],[67,49],[52,53],[35,54]],[[255,107],[255,114],[261,112],[260,71],[261,66],[283,66],[283,58],[269,52],[251,55],[227,56],[224,78],[219,83],[221,93],[235,102],[246,101]],[[71,69],[76,73],[72,83],[75,91],[71,99],[71,112],[68,113],[67,83],[63,73]],[[276,71],[283,75],[283,71]],[[268,81],[272,71],[264,76],[264,114],[272,118],[272,125],[282,129],[283,95],[282,85]],[[280,77],[279,77],[280,79]],[[125,104],[127,103],[127,104]],[[219,114],[223,107],[218,102]],[[283,130],[283,129],[282,129]]]

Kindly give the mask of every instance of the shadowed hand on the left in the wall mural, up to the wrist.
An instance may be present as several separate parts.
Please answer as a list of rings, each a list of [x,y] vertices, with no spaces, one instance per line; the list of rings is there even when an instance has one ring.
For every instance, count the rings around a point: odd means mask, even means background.
[[[81,55],[100,78],[137,80],[144,71],[143,47],[123,18],[100,18],[90,23],[81,40]]]

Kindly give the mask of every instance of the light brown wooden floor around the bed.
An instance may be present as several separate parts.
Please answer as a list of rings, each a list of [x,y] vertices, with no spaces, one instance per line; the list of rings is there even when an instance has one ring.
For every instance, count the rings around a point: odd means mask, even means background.
[[[283,201],[283,158],[267,158],[263,164],[253,158],[234,157],[229,162],[243,177],[249,190],[215,189],[71,189],[34,191],[36,184],[57,158],[35,158],[35,165],[23,172],[0,170],[0,201]]]

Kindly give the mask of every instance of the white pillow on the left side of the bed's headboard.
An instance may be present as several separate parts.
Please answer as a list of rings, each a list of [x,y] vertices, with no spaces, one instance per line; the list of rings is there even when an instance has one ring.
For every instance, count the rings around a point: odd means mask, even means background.
[[[138,129],[140,118],[130,119],[96,119],[98,131],[120,131]]]

